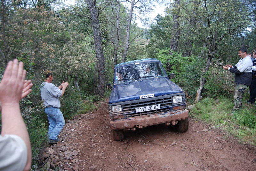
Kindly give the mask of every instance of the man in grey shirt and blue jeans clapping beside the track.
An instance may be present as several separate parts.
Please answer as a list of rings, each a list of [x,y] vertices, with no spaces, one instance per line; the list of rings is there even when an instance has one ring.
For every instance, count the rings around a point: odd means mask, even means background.
[[[64,128],[65,120],[60,111],[60,97],[63,96],[68,86],[67,82],[62,82],[59,87],[52,84],[53,75],[51,71],[45,73],[45,82],[41,84],[41,97],[44,101],[44,111],[49,120],[48,137],[49,143],[56,143],[61,141],[58,138],[60,131]]]

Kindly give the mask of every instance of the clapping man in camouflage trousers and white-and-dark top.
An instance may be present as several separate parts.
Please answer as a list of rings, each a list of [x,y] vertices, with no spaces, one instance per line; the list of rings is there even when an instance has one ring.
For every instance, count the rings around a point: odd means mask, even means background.
[[[238,49],[238,56],[241,58],[235,66],[225,65],[223,69],[228,70],[235,76],[235,96],[234,102],[235,106],[233,110],[239,110],[242,108],[243,94],[245,89],[251,85],[252,82],[252,60],[250,56],[247,55],[246,48]]]

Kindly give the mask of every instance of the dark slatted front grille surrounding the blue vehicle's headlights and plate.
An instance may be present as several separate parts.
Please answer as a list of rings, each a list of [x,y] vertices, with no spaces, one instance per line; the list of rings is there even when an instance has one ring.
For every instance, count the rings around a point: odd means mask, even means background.
[[[184,108],[186,108],[185,94],[172,94],[172,95],[175,95],[175,96],[182,95],[183,102],[179,103],[179,104],[175,104],[175,106],[183,105]],[[127,118],[131,118],[131,117],[135,117],[135,116],[143,116],[143,115],[152,115],[152,114],[161,114],[161,113],[171,112],[173,110],[172,95],[152,97],[152,98],[140,99],[140,100],[132,100],[132,101],[126,101],[124,103],[115,104],[115,105],[121,104],[123,107],[123,111],[120,113],[115,113],[114,115],[123,114],[124,119],[127,119]],[[184,103],[185,103],[185,105],[184,105]],[[160,109],[136,113],[135,108],[151,106],[151,105],[158,105],[158,104],[160,105]],[[109,106],[109,113],[110,113],[110,117],[113,118],[114,115],[111,114],[111,106]],[[114,120],[116,120],[116,119],[114,119]]]

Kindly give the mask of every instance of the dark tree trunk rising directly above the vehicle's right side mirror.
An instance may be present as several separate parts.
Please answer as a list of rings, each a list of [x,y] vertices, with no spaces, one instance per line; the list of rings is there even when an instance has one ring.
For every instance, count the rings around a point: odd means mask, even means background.
[[[170,44],[170,55],[172,55],[172,50],[177,52],[179,39],[180,39],[180,21],[179,21],[179,14],[180,14],[180,0],[174,1],[174,9],[177,9],[175,15],[173,16],[173,34],[172,40]],[[169,61],[166,63],[166,71],[169,72],[172,69],[172,65],[170,65]]]

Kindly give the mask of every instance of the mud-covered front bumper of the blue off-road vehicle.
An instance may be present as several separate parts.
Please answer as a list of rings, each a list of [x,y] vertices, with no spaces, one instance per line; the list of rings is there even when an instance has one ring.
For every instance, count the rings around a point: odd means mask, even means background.
[[[110,127],[112,130],[133,129],[134,127],[143,128],[151,125],[169,123],[179,121],[188,117],[188,110],[179,110],[168,112],[166,114],[153,114],[145,116],[136,116],[129,119],[111,121]]]

